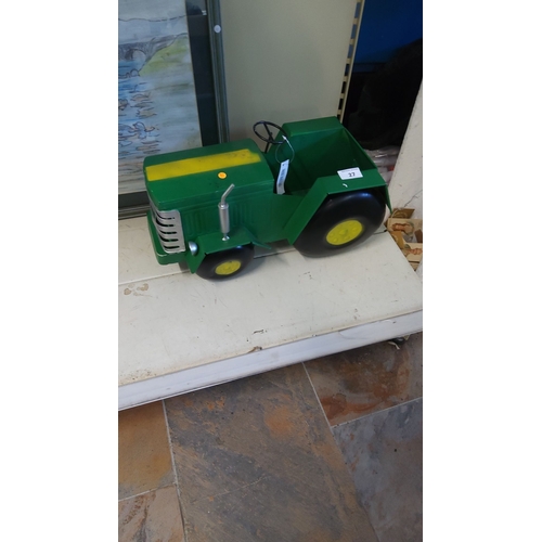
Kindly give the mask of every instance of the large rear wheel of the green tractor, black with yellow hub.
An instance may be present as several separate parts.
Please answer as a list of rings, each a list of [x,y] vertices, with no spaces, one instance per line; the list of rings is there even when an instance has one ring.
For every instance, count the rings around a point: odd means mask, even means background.
[[[366,241],[383,223],[385,214],[386,201],[379,190],[332,194],[294,246],[305,256],[330,256]]]

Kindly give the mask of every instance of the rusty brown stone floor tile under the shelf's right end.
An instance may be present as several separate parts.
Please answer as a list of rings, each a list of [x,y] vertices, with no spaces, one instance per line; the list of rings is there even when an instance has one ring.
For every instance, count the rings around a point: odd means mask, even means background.
[[[378,343],[305,363],[330,424],[422,397],[422,333],[399,349]]]

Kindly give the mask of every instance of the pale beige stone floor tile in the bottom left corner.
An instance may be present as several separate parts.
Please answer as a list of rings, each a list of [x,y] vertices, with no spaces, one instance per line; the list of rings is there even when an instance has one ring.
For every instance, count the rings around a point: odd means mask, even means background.
[[[170,486],[118,503],[118,542],[182,542],[177,490]]]

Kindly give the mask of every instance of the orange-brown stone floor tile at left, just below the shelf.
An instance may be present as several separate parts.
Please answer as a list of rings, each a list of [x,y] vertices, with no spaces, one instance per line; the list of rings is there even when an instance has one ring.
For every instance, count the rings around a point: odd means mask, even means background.
[[[173,483],[162,401],[118,413],[118,498]]]

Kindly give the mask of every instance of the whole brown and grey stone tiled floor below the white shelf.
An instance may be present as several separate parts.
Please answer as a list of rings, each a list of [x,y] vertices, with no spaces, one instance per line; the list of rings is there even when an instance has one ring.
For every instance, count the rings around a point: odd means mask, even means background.
[[[119,412],[119,542],[421,541],[422,340]]]

